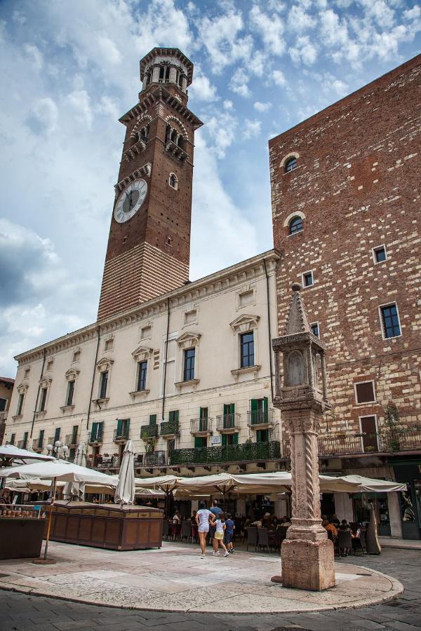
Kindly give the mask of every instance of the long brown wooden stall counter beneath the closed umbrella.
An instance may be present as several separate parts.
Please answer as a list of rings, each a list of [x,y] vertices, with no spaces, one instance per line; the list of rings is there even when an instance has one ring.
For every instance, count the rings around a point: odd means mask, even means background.
[[[107,550],[161,548],[162,522],[159,508],[56,501],[50,538]]]

